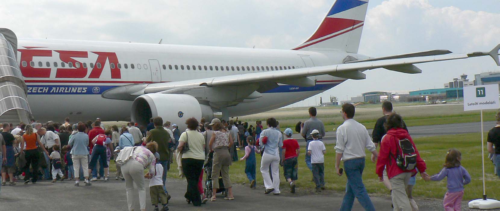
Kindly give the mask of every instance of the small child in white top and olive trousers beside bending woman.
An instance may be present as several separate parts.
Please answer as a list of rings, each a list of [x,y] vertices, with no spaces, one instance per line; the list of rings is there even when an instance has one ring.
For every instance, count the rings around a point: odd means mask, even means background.
[[[144,175],[144,178],[149,178],[149,195],[151,196],[151,203],[154,206],[154,211],[158,211],[158,199],[159,202],[163,205],[161,211],[168,210],[168,199],[166,197],[166,193],[163,190],[163,180],[161,176],[163,175],[163,166],[158,162],[159,154],[158,152],[154,153],[156,157],[156,164],[154,165],[155,174],[149,175],[149,172]]]

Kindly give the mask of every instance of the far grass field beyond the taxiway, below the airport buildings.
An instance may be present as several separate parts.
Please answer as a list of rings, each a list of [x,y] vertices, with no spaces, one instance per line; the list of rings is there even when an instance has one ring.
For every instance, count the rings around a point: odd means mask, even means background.
[[[376,106],[375,106],[376,105]],[[375,121],[382,115],[380,104],[361,105],[356,107],[354,118],[366,126],[373,128]],[[462,122],[476,122],[480,120],[479,111],[463,111],[462,104],[436,104],[436,105],[418,105],[415,104],[397,104],[393,110],[403,116],[406,125],[435,125]],[[339,106],[318,107],[317,117],[325,125],[326,131],[336,129],[343,122],[340,115]],[[485,121],[494,120],[495,110],[484,110],[483,117]],[[281,108],[266,111],[257,114],[251,114],[238,117],[242,122],[255,125],[256,120],[261,120],[265,124],[265,119],[274,117],[279,121],[282,130],[286,127],[294,128],[298,121],[305,121],[309,118],[307,108]],[[235,119],[235,118],[233,118]],[[265,126],[265,125],[264,125]]]

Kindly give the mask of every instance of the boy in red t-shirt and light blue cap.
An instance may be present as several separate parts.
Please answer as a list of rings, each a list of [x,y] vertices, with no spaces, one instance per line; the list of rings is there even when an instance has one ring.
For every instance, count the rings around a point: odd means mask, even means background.
[[[290,128],[284,130],[286,139],[283,140],[282,148],[285,149],[284,153],[281,153],[281,161],[283,162],[283,172],[286,181],[290,183],[290,192],[295,193],[295,183],[297,180],[297,157],[300,153],[300,146],[298,146],[298,141],[291,138],[293,131]]]

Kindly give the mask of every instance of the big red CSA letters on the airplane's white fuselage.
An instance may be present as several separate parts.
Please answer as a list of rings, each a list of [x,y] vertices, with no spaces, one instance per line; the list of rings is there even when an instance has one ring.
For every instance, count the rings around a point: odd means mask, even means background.
[[[52,50],[42,50],[42,49],[17,49],[21,52],[21,63],[25,61],[28,65],[22,66],[20,65],[21,73],[24,77],[50,77],[50,68],[35,68],[29,65],[30,61],[33,60],[33,56],[52,56]],[[73,50],[54,50],[59,53],[59,58],[62,62],[68,63],[72,62],[75,64],[76,62],[80,63],[79,67],[73,65],[72,68],[57,68],[55,72],[55,77],[65,77],[65,78],[83,78],[87,75],[87,68],[84,68],[81,65],[82,62],[74,59],[75,58],[87,58],[87,51],[73,51]],[[96,63],[101,63],[99,65],[94,65],[92,71],[88,75],[88,78],[99,78],[102,73],[102,69],[104,69],[104,63],[106,59],[109,63],[114,63],[114,68],[111,69],[111,78],[121,78],[120,69],[118,68],[118,58],[116,57],[116,53],[114,52],[95,52],[91,53],[97,54]],[[111,66],[111,65],[109,65]]]

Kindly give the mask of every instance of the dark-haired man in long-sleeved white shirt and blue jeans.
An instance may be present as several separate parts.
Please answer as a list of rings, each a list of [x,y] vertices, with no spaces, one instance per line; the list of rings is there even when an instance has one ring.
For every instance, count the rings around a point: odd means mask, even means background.
[[[347,184],[345,195],[340,205],[340,210],[351,210],[354,198],[357,198],[365,210],[375,210],[370,197],[366,192],[361,178],[364,169],[364,148],[373,154],[371,161],[375,162],[378,153],[371,141],[370,135],[362,124],[352,119],[354,117],[354,105],[345,103],[340,111],[344,122],[337,128],[337,141],[335,145],[335,170],[340,176],[340,161],[343,161]]]

